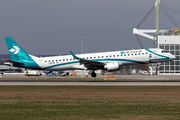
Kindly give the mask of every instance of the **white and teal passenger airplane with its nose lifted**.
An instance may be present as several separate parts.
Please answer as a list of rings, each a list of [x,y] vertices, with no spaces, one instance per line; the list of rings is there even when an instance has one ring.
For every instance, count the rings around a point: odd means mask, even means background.
[[[4,64],[35,70],[91,70],[91,76],[97,76],[96,70],[118,71],[122,65],[159,63],[176,59],[163,49],[136,49],[113,52],[99,52],[75,55],[36,57],[25,52],[11,37],[5,37],[11,60]]]

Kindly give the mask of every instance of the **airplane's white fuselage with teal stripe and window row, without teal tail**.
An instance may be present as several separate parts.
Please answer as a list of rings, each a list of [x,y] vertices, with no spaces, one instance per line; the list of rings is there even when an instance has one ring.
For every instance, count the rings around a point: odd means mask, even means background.
[[[126,64],[145,64],[157,63],[175,59],[176,57],[162,49],[137,49],[126,51],[114,52],[100,52],[88,54],[76,54],[77,57],[97,61],[102,63],[118,62],[119,65]],[[79,60],[73,58],[72,55],[54,56],[54,57],[33,57],[34,61],[43,70],[56,71],[56,70],[84,70],[86,67],[79,63]]]

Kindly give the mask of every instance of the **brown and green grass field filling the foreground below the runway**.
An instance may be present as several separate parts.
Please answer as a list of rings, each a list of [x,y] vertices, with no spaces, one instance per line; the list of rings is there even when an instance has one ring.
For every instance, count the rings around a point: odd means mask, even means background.
[[[180,87],[0,86],[0,119],[178,120]]]

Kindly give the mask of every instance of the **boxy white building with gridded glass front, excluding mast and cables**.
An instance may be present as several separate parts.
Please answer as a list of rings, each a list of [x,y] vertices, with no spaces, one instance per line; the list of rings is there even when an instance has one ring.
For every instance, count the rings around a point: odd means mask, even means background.
[[[180,75],[180,34],[174,34],[172,30],[165,31],[158,36],[158,48],[176,56],[176,60],[162,62],[159,75]]]

